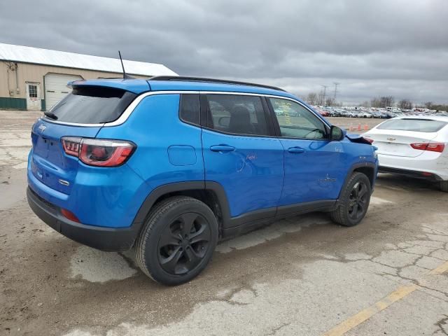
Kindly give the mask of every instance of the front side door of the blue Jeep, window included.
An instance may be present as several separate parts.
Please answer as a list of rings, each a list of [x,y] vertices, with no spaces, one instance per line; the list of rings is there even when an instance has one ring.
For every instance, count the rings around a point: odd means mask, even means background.
[[[285,179],[279,206],[336,200],[344,183],[344,147],[328,140],[323,121],[301,104],[268,98],[284,148]]]

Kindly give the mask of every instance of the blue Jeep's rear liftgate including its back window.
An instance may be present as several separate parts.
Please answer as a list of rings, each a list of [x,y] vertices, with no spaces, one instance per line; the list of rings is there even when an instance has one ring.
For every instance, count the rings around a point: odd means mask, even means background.
[[[31,130],[31,172],[45,186],[70,194],[78,158],[66,155],[62,137],[94,138],[104,123],[121,116],[137,95],[111,87],[75,87]]]

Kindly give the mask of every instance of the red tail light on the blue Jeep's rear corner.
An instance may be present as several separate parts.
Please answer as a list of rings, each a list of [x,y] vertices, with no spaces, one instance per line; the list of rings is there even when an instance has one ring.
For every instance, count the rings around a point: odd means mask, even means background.
[[[130,141],[63,137],[66,155],[76,156],[86,165],[118,167],[128,160],[136,146]]]

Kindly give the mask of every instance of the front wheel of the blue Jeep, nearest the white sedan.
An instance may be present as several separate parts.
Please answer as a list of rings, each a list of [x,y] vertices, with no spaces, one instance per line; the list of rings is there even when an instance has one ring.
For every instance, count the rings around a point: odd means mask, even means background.
[[[362,195],[360,195],[361,193]],[[354,226],[360,223],[367,213],[371,193],[372,187],[367,176],[354,172],[342,189],[337,209],[330,212],[332,221],[344,226]]]

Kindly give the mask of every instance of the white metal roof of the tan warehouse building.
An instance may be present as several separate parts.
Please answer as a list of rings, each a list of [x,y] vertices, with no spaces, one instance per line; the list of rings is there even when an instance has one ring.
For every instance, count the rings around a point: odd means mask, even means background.
[[[117,52],[118,53],[118,52]],[[11,62],[64,66],[106,72],[123,72],[120,59],[76,54],[57,50],[25,47],[0,43],[0,59]],[[137,62],[123,59],[126,73],[141,76],[177,76],[177,73],[163,64]]]

